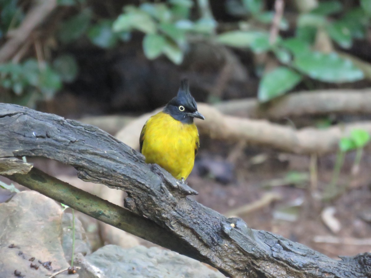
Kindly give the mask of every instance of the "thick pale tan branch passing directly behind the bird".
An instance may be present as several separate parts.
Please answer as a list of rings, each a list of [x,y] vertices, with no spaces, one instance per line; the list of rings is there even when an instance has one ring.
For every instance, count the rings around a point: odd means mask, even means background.
[[[195,120],[200,134],[209,135],[213,139],[235,140],[236,142],[243,140],[249,144],[267,146],[291,153],[324,155],[336,152],[339,140],[348,136],[352,129],[364,129],[371,133],[369,121],[336,125],[326,129],[309,127],[297,130],[291,126],[279,125],[267,120],[224,115],[215,107],[204,103],[198,104],[198,110],[205,116],[204,121]],[[116,138],[132,148],[139,149],[138,138],[142,126],[157,111],[145,114],[129,123],[118,132]]]

